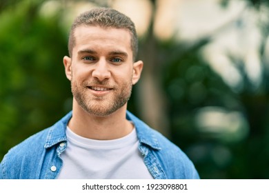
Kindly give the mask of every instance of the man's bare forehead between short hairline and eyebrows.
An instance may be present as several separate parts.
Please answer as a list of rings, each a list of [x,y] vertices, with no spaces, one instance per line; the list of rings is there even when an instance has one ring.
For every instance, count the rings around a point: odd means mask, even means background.
[[[80,49],[115,49],[132,52],[131,34],[126,29],[79,26],[74,30],[73,51]]]

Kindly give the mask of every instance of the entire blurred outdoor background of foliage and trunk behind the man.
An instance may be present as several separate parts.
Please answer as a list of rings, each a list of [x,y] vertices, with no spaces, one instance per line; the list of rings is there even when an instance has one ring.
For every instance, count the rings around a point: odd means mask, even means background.
[[[0,160],[72,109],[69,28],[97,6],[137,26],[144,69],[128,109],[201,179],[269,179],[267,0],[1,0]]]

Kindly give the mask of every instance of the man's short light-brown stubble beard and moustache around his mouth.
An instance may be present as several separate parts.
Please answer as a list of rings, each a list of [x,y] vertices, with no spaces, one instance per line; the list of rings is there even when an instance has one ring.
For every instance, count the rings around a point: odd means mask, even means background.
[[[87,85],[103,85],[106,81],[94,81],[94,83],[83,83],[79,85],[71,79],[71,89],[74,99],[89,114],[95,116],[108,116],[123,107],[130,99],[132,93],[132,81],[121,85],[113,86],[112,93],[104,96],[94,96],[90,94]],[[110,87],[110,86],[109,86]]]

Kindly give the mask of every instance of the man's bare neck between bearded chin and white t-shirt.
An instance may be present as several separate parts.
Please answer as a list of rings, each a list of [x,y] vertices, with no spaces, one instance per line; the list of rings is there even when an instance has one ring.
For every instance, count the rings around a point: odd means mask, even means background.
[[[132,132],[133,125],[126,119],[127,104],[108,116],[95,116],[83,110],[74,100],[68,127],[88,139],[119,139]]]

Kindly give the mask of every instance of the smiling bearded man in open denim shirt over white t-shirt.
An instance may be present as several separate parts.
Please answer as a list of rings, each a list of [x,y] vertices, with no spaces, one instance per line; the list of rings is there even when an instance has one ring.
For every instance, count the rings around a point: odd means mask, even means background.
[[[143,68],[135,25],[110,8],[95,8],[72,24],[72,112],[4,156],[0,179],[199,179],[176,145],[127,111]]]

